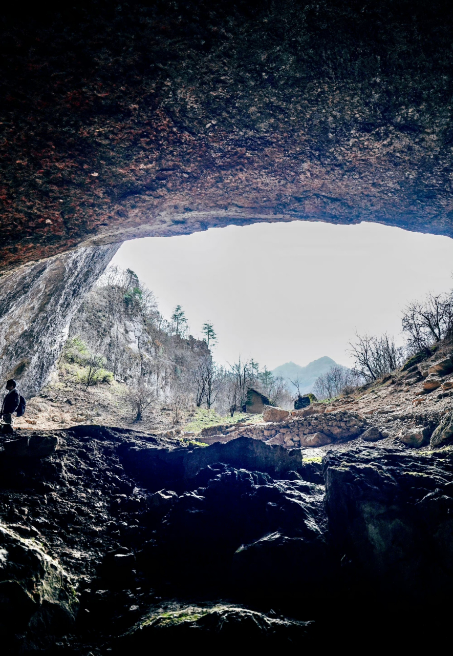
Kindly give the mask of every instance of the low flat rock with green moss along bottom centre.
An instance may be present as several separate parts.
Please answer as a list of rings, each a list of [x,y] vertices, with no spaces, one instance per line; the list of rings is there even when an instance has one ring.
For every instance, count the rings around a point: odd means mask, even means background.
[[[200,647],[237,650],[251,644],[254,649],[292,650],[307,646],[310,636],[310,622],[272,617],[240,605],[174,604],[151,610],[118,640],[115,653],[146,653],[149,644],[184,651]]]

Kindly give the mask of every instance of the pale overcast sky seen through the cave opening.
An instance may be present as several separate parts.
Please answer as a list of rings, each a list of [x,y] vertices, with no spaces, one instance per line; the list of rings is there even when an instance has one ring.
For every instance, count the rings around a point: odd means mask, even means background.
[[[355,329],[403,342],[401,308],[453,286],[453,239],[378,224],[262,223],[127,241],[113,264],[131,268],[169,318],[190,332],[214,324],[214,358],[239,354],[273,369],[330,356],[350,365]]]

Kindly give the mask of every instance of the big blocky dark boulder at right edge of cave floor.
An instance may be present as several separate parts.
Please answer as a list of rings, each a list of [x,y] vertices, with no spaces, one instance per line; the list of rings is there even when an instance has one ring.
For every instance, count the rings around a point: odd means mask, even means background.
[[[325,480],[330,540],[353,595],[450,596],[452,454],[330,451]]]

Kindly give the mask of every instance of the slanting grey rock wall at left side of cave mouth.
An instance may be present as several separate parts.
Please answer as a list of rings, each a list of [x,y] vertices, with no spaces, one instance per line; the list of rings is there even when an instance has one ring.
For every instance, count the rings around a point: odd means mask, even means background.
[[[0,380],[16,379],[25,396],[39,391],[60,355],[71,318],[118,248],[81,248],[1,279]]]

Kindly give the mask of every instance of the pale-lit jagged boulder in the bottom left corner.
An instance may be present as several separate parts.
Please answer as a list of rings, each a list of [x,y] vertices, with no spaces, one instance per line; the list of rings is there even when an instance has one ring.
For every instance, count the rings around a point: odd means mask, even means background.
[[[0,525],[0,634],[46,642],[73,624],[77,597],[60,565],[32,539]],[[3,644],[5,647],[5,644]]]

